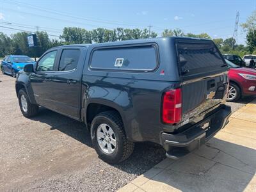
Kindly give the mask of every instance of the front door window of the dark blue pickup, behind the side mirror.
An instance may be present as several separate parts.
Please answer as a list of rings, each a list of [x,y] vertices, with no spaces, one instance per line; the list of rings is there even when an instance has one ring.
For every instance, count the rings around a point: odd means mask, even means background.
[[[57,51],[48,52],[38,61],[37,71],[52,71]]]

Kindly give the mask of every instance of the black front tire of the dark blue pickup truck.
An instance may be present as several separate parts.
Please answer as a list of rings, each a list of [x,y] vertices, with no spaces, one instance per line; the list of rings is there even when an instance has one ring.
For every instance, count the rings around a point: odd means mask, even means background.
[[[31,104],[29,101],[28,95],[26,93],[26,90],[23,88],[19,90],[19,105],[20,105],[20,111],[22,114],[26,117],[35,116],[38,113],[38,105]],[[26,104],[24,103],[26,102]],[[26,106],[26,108],[24,107]]]

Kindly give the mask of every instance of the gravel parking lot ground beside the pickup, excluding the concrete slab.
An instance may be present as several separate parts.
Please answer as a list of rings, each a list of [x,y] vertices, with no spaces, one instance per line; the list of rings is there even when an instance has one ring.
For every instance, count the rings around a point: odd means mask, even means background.
[[[137,143],[124,163],[104,163],[83,124],[44,108],[24,118],[14,82],[0,74],[0,191],[116,191],[165,158],[163,148]],[[251,100],[228,104],[236,111]]]

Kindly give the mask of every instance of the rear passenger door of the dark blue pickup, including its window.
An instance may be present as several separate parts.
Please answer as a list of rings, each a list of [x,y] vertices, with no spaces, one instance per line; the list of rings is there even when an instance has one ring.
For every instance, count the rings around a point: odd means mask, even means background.
[[[50,108],[73,118],[79,118],[81,108],[81,76],[86,54],[84,47],[60,49],[60,59],[54,73],[49,74],[47,99]]]

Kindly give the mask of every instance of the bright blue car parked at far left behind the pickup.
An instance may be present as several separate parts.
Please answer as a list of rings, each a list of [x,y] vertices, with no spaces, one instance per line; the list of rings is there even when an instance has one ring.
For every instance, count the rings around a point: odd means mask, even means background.
[[[27,64],[35,64],[35,61],[24,55],[5,56],[1,62],[1,70],[3,74],[10,74],[16,77],[17,72]]]

